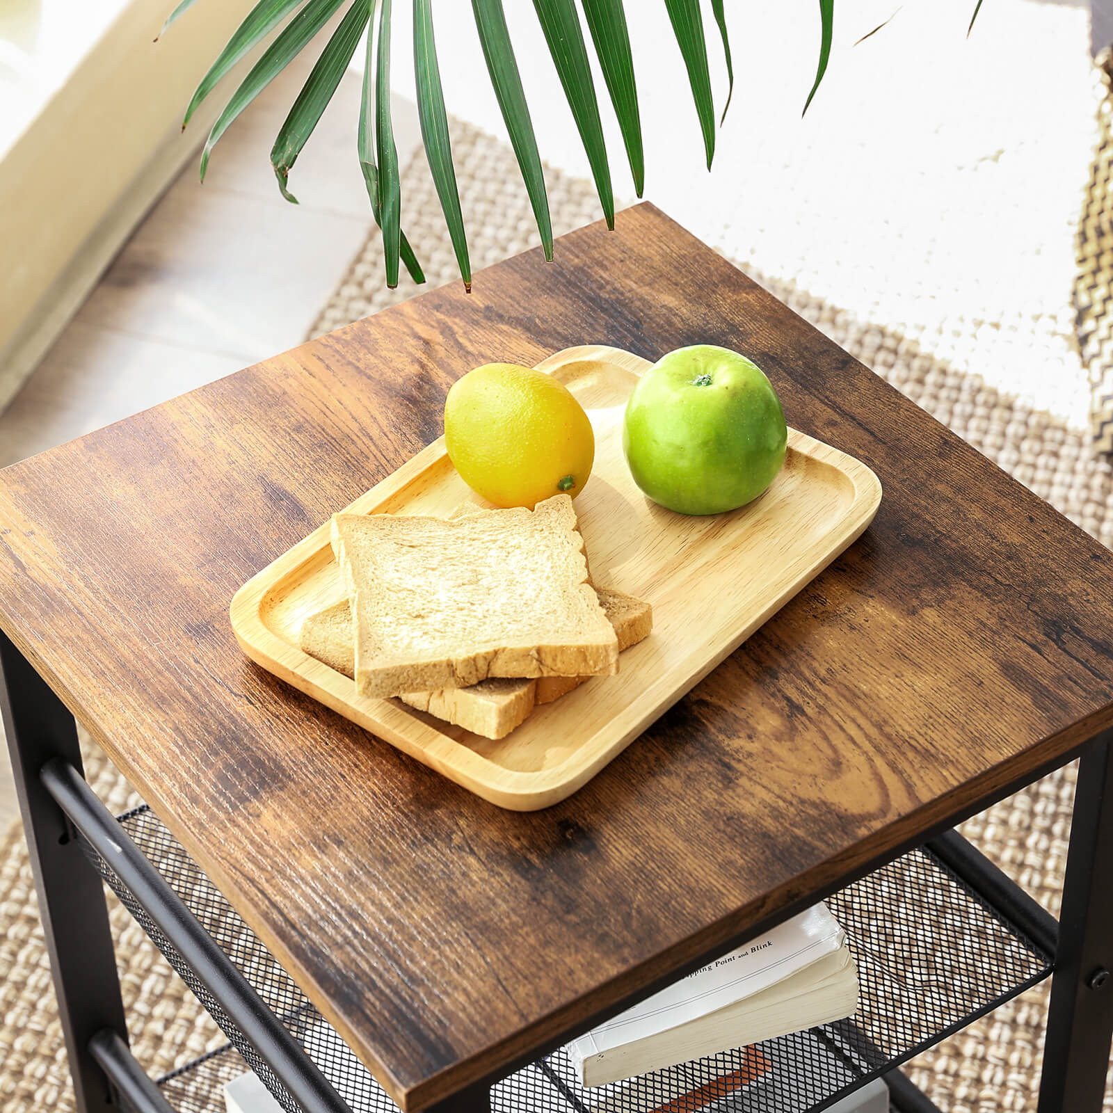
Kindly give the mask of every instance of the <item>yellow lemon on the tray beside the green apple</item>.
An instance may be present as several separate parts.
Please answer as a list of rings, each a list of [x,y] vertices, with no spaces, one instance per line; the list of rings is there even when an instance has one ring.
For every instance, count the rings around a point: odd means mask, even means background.
[[[551,375],[487,363],[452,385],[444,443],[461,479],[496,506],[583,490],[595,437],[583,407]]]

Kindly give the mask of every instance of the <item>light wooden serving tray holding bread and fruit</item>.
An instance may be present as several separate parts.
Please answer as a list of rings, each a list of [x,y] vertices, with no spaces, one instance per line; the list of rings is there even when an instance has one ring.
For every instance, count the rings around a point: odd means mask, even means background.
[[[788,432],[769,490],[730,514],[688,518],[650,502],[622,455],[622,413],[650,364],[618,348],[567,348],[539,368],[591,417],[595,463],[575,500],[595,582],[648,600],[653,632],[615,677],[597,677],[534,709],[492,741],[355,683],[298,649],[302,620],[344,598],[328,523],[236,592],[232,626],[244,652],[275,676],[493,804],[532,811],[570,796],[738,648],[873,520],[877,476],[837,449]],[[361,495],[346,513],[445,518],[482,503],[456,474],[444,439]]]

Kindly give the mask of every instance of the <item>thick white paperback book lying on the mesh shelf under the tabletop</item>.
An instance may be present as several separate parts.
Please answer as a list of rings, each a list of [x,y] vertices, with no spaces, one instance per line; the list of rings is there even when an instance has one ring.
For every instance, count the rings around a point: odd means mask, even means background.
[[[574,1040],[584,1086],[828,1024],[858,1006],[858,972],[819,904]]]

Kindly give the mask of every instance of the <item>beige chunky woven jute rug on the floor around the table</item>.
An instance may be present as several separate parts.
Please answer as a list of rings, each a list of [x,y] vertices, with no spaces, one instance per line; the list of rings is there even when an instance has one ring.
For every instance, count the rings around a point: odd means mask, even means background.
[[[473,128],[453,136],[473,266],[534,246],[536,233],[510,148]],[[589,184],[549,169],[554,230],[598,215]],[[493,183],[504,183],[493,186]],[[455,259],[423,158],[403,176],[403,211],[429,285],[456,282]],[[621,215],[619,216],[621,221]],[[743,269],[874,371],[945,422],[1022,483],[1105,544],[1113,544],[1113,473],[1090,452],[1089,433],[1033,411],[949,366],[898,328],[860,321],[811,296],[790,274]],[[403,275],[385,289],[378,235],[372,232],[351,270],[323,308],[314,333],[366,316],[420,293]],[[985,323],[978,322],[977,327]],[[971,327],[974,327],[973,325]],[[1023,337],[1022,337],[1023,341]],[[129,789],[107,760],[88,749],[93,787],[117,810]],[[994,861],[1057,914],[1070,835],[1074,767],[1067,767],[964,825]],[[171,1070],[223,1037],[185,985],[115,899],[112,930],[136,1053],[151,1071]],[[72,1109],[49,967],[36,910],[27,850],[19,830],[0,845],[0,1111]],[[1046,987],[919,1056],[913,1078],[949,1113],[1034,1111]],[[1106,1097],[1106,1110],[1113,1101]],[[220,1109],[214,1105],[214,1111]]]

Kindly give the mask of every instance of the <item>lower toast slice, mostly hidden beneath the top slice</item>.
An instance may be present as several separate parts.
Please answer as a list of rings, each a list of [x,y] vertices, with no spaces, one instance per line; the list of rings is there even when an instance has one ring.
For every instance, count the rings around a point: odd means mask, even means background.
[[[614,627],[619,649],[649,637],[653,609],[613,588],[595,588],[608,621]],[[298,643],[311,657],[346,677],[355,673],[352,609],[347,600],[311,614],[298,631]],[[524,722],[535,703],[550,703],[590,677],[540,677],[535,680],[482,680],[470,688],[441,688],[405,692],[400,699],[484,738],[503,738]],[[560,686],[556,688],[555,686]]]

